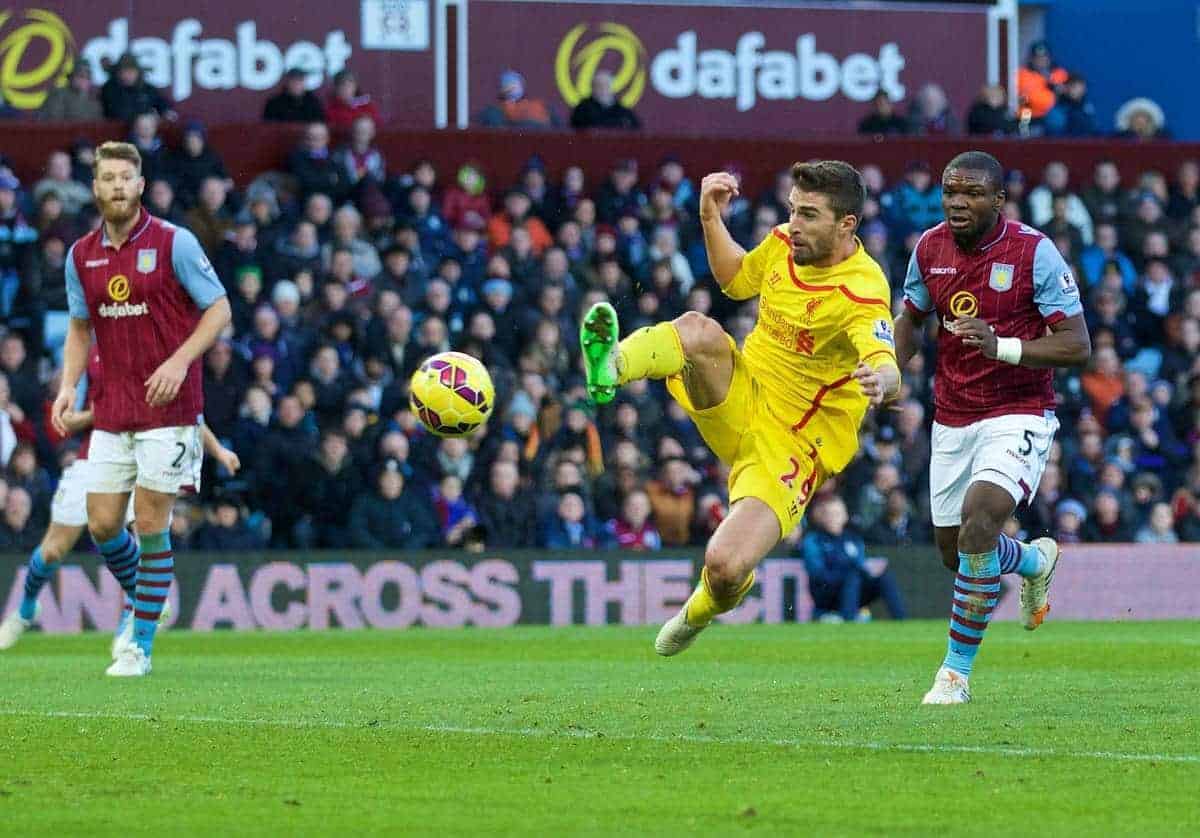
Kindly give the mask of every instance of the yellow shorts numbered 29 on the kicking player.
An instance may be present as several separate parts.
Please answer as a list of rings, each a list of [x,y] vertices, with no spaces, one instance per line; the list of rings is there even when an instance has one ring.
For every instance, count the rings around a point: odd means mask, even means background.
[[[696,409],[682,375],[666,379],[667,391],[696,423],[713,453],[730,466],[730,504],[744,497],[762,501],[775,511],[780,533],[786,535],[800,522],[828,473],[816,447],[772,411],[732,337],[730,348],[733,378],[720,405]]]

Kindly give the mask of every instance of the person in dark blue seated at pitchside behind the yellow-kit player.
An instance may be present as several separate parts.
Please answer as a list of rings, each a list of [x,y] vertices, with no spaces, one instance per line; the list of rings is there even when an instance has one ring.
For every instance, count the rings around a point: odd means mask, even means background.
[[[869,558],[863,539],[846,529],[850,515],[836,495],[817,498],[810,529],[800,541],[809,577],[812,618],[822,622],[870,619],[866,606],[881,597],[893,619],[905,618],[904,600],[886,558]],[[834,618],[834,619],[832,619]]]

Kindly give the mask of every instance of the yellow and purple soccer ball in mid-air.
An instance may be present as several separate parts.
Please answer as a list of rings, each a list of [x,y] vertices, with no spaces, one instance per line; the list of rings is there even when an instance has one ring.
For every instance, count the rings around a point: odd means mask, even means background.
[[[426,358],[409,382],[413,413],[431,433],[464,437],[492,412],[496,388],[487,367],[461,352],[439,352]]]

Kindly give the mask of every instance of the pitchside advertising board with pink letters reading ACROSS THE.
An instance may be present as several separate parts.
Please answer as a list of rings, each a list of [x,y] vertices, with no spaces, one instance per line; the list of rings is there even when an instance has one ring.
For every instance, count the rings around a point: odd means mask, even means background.
[[[910,616],[946,616],[952,575],[929,547],[880,549]],[[172,623],[198,632],[308,628],[654,624],[691,591],[700,551],[432,551],[193,553],[176,558]],[[24,557],[0,556],[5,612],[20,600]],[[1054,613],[1068,619],[1200,618],[1200,547],[1074,545],[1055,577]],[[1006,577],[997,619],[1016,618]],[[98,561],[66,564],[42,593],[43,630],[112,630],[120,589]],[[772,558],[726,622],[811,617],[804,564]]]

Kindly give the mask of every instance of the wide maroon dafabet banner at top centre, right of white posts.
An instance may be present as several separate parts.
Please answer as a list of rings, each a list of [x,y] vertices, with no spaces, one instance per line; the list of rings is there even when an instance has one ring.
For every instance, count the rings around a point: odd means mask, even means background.
[[[961,114],[988,70],[979,6],[470,0],[469,31],[473,113],[511,68],[565,121],[607,70],[653,133],[853,133],[928,82]]]

